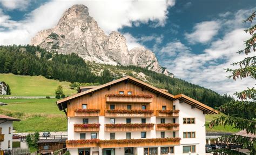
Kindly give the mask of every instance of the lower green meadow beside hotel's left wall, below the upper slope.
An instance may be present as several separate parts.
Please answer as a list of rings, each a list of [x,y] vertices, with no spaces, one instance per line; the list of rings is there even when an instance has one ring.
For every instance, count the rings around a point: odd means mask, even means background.
[[[58,110],[57,99],[0,99],[0,113],[22,119],[14,122],[16,132],[66,131],[66,116]]]

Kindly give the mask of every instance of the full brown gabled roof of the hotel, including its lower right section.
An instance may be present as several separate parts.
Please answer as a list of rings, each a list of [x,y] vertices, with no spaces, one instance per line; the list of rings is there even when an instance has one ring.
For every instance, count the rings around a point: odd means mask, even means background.
[[[146,90],[152,91],[154,93],[157,93],[160,96],[163,96],[163,97],[171,99],[171,100],[176,100],[176,99],[182,99],[183,100],[183,98],[184,98],[185,99],[185,103],[188,103],[188,104],[191,104],[191,105],[197,105],[198,109],[206,111],[207,113],[212,113],[212,114],[213,113],[218,113],[218,111],[212,109],[210,106],[207,106],[207,105],[205,105],[203,103],[200,103],[197,100],[194,100],[194,99],[192,99],[190,97],[187,97],[187,96],[185,96],[183,94],[173,96],[171,93],[166,92],[163,89],[158,89],[157,87],[154,87],[154,86],[152,86],[150,84],[147,84],[147,83],[145,83],[145,82],[143,82],[143,81],[141,81],[139,79],[133,78],[131,76],[125,76],[123,78],[120,78],[120,79],[117,79],[117,80],[113,80],[112,82],[109,82],[109,83],[106,83],[106,84],[103,84],[103,85],[99,85],[99,86],[93,87],[92,89],[89,89],[87,91],[80,92],[80,93],[77,93],[76,95],[72,95],[70,97],[66,97],[66,98],[60,99],[56,103],[57,103],[57,105],[59,107],[59,110],[63,110],[63,109],[66,108],[67,102],[69,102],[72,99],[76,99],[76,98],[82,97],[84,95],[92,94],[93,92],[99,91],[101,89],[105,89],[107,87],[110,87],[111,85],[115,85],[115,84],[118,84],[118,83],[121,83],[121,82],[124,82],[124,81],[136,84],[138,86],[141,86],[141,87],[143,87]]]

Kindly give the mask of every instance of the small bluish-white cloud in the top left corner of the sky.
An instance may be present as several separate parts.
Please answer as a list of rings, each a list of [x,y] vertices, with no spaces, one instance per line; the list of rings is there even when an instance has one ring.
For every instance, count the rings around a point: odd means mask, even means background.
[[[25,10],[30,4],[30,0],[0,0],[2,6],[8,10]]]

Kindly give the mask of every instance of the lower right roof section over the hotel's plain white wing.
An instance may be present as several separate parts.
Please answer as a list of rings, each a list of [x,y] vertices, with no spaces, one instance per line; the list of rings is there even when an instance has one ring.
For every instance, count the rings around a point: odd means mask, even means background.
[[[198,109],[205,111],[207,114],[214,114],[214,113],[219,113],[217,110],[213,109],[210,106],[207,106],[193,98],[190,98],[184,94],[179,94],[174,96],[174,98],[179,99],[179,100],[183,100],[185,103],[190,104],[190,105],[194,105],[196,106]]]

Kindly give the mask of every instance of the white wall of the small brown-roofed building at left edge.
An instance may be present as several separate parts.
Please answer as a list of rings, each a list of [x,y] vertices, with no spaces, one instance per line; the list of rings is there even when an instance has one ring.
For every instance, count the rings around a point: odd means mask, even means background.
[[[12,121],[4,122],[0,120],[0,127],[2,127],[2,134],[4,134],[4,141],[1,142],[1,149],[12,149]],[[9,134],[9,127],[11,127],[11,134]],[[10,140],[10,148],[8,148],[8,141]]]

